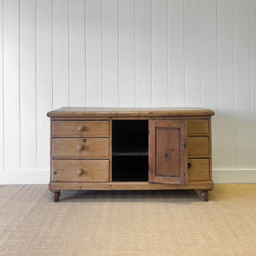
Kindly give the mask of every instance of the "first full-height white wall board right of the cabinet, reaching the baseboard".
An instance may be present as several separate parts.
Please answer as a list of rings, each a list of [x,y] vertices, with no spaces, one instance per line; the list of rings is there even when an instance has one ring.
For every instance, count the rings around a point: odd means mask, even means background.
[[[224,169],[236,164],[233,21],[233,0],[218,1],[218,155]]]

